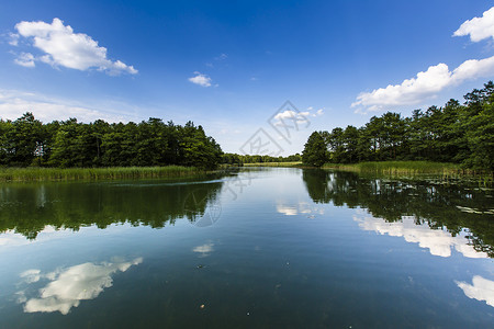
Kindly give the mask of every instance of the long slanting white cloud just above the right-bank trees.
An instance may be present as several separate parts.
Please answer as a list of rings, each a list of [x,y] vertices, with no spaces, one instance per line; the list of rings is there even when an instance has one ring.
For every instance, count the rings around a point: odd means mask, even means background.
[[[384,106],[417,104],[436,97],[447,87],[468,79],[490,78],[493,75],[494,56],[481,60],[465,60],[452,72],[446,64],[440,63],[430,66],[427,71],[418,72],[415,78],[404,80],[401,84],[390,84],[386,88],[360,93],[351,106],[359,107],[356,112],[364,112],[362,107],[368,111],[380,111]]]

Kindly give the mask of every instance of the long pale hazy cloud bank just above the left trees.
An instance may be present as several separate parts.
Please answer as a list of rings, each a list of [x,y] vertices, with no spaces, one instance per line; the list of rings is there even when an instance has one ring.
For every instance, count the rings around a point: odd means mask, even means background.
[[[106,122],[138,121],[135,114],[122,112],[124,104],[98,104],[89,107],[79,102],[43,97],[32,92],[0,89],[0,118],[15,120],[25,112],[33,112],[34,116],[42,122],[54,120],[67,120],[76,117],[81,122],[93,122],[104,120]],[[119,107],[113,110],[112,107]]]

